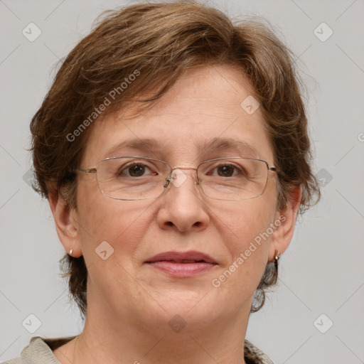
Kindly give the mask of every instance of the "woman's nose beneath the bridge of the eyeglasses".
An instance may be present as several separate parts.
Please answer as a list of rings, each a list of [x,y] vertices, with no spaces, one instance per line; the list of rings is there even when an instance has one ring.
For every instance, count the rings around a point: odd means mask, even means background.
[[[167,191],[159,201],[160,208],[157,215],[159,227],[179,232],[204,230],[210,218],[198,188],[196,168],[173,168],[166,183]]]

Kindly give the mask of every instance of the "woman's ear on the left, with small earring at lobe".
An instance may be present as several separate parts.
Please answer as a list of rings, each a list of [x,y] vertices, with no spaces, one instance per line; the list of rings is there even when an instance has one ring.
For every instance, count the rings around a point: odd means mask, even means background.
[[[68,208],[62,194],[56,189],[48,194],[48,200],[55,220],[55,229],[65,251],[70,255],[70,250],[72,250],[73,257],[80,257],[82,248],[77,227],[76,210]]]

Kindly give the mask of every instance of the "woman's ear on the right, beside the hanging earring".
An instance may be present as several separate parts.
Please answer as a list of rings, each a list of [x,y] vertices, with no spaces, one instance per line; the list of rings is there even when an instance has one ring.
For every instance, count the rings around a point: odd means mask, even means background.
[[[301,194],[301,186],[291,189],[287,205],[276,213],[274,225],[277,228],[272,234],[269,248],[269,262],[274,262],[276,250],[282,255],[287,250],[287,247],[292,240],[297,213],[299,212],[299,206],[301,205]]]

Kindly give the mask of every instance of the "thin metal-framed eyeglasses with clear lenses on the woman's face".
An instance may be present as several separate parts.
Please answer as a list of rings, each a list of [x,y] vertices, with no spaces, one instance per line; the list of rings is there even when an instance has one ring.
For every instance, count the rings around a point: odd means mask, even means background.
[[[186,181],[182,170],[195,170],[195,184],[208,198],[248,200],[264,192],[269,167],[261,159],[228,158],[203,161],[197,168],[172,168],[165,161],[139,156],[117,156],[100,161],[96,168],[75,171],[96,173],[97,185],[107,197],[117,200],[146,200],[161,196],[170,183],[179,187]]]

